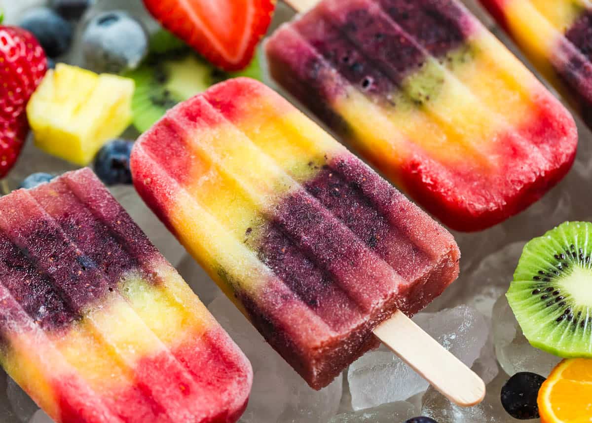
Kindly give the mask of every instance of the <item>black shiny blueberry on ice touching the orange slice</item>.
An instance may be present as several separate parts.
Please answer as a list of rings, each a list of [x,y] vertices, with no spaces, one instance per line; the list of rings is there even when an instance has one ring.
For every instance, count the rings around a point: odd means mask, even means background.
[[[521,371],[510,377],[501,388],[501,405],[513,418],[526,420],[539,417],[536,398],[545,378],[528,371]]]

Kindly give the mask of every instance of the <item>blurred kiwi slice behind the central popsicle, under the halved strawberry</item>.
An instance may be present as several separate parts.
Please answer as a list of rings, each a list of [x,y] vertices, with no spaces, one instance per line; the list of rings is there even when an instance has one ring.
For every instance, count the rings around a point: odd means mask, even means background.
[[[142,65],[125,76],[136,81],[131,104],[133,124],[144,132],[178,102],[229,78],[249,76],[261,80],[262,71],[256,56],[241,72],[223,72],[162,30],[150,40],[150,54]]]

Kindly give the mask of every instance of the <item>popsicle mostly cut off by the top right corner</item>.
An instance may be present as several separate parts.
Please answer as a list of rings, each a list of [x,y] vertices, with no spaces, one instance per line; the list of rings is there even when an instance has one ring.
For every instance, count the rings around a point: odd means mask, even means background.
[[[592,127],[592,5],[587,0],[481,0]]]

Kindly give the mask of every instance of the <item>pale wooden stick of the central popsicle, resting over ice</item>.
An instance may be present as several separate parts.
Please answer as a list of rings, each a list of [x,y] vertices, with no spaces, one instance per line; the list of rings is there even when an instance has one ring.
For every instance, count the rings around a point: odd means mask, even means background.
[[[453,403],[470,407],[485,397],[481,378],[402,312],[378,325],[374,335]]]

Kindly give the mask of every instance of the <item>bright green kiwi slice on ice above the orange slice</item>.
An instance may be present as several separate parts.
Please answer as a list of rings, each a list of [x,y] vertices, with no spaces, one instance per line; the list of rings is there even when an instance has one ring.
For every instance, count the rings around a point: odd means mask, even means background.
[[[526,244],[506,296],[530,344],[592,357],[592,223],[565,222]]]

